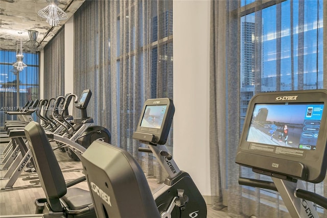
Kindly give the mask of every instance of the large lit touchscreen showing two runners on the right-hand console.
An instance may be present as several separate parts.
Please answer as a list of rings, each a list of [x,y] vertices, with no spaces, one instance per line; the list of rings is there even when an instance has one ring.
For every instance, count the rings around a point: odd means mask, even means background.
[[[255,104],[247,141],[316,150],[322,103]]]

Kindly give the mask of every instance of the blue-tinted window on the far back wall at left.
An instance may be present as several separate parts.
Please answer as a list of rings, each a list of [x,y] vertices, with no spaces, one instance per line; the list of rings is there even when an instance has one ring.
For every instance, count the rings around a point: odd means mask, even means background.
[[[39,53],[23,53],[23,62],[27,65],[21,71],[16,71],[16,52],[0,51],[0,126],[4,127],[7,119],[6,110],[16,110],[27,101],[39,98]]]

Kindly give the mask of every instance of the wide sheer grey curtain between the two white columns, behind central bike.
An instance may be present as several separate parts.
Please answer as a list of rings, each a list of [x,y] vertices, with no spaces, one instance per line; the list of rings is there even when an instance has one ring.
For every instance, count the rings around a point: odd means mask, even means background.
[[[74,92],[92,91],[95,125],[160,179],[132,134],[148,98],[173,96],[172,1],[86,1],[74,15],[74,33]]]

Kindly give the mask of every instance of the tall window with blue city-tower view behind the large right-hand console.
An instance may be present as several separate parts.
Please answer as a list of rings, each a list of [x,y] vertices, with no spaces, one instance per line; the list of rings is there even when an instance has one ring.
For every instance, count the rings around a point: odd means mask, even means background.
[[[251,4],[255,7],[247,10]],[[242,1],[240,9],[242,128],[249,100],[255,93],[323,88],[323,1],[288,0],[268,7]],[[245,167],[241,168],[241,176],[270,180]],[[307,188],[323,196],[323,183],[307,183]],[[242,186],[242,192],[245,199],[278,208],[275,216],[287,211],[278,192],[247,186]],[[320,206],[316,208],[323,212]]]

